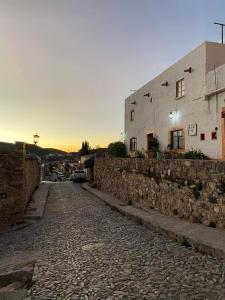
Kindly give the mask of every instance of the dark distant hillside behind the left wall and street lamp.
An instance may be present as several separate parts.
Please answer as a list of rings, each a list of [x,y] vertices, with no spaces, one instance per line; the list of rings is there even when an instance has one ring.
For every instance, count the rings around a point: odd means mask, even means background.
[[[26,144],[26,153],[28,155],[38,155],[44,158],[47,154],[55,155],[67,155],[67,152],[53,149],[53,148],[42,148],[33,144]],[[0,153],[7,153],[15,150],[15,144],[0,142]]]

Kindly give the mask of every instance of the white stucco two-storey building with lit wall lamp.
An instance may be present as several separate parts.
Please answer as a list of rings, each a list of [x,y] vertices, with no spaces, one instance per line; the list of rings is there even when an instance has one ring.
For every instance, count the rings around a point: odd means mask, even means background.
[[[205,42],[125,100],[125,143],[225,158],[225,45]]]

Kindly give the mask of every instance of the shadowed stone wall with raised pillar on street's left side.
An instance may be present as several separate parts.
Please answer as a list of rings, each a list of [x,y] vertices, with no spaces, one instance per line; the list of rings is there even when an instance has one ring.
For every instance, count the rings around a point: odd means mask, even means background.
[[[17,143],[15,151],[0,154],[0,230],[22,221],[39,182],[39,163],[26,157],[23,143]]]

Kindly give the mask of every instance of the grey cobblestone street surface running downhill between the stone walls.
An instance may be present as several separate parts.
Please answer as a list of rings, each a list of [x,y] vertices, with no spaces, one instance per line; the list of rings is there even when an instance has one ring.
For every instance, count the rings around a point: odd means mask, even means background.
[[[225,263],[111,210],[79,184],[50,187],[44,217],[0,236],[0,258],[35,251],[28,299],[225,299]]]

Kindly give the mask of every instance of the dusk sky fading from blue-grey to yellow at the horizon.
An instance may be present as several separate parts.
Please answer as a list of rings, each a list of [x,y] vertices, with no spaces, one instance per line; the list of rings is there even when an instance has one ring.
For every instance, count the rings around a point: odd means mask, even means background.
[[[120,140],[124,99],[220,41],[224,0],[0,0],[0,141]]]

